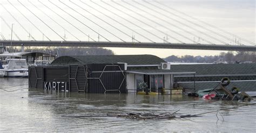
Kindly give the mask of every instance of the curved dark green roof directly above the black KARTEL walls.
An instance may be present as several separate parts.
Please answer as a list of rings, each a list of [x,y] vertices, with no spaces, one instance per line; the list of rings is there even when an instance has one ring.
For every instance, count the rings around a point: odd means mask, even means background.
[[[114,64],[127,63],[128,65],[154,65],[165,62],[154,55],[92,55],[92,56],[61,56],[51,65],[66,64]]]

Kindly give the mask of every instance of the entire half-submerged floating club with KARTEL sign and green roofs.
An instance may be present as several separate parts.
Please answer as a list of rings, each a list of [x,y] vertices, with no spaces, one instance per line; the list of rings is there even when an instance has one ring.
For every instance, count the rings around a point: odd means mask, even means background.
[[[241,91],[256,86],[256,64],[171,65],[154,55],[62,56],[51,65],[29,67],[29,87],[84,93],[137,93],[144,82],[149,92],[213,88],[228,77]]]

